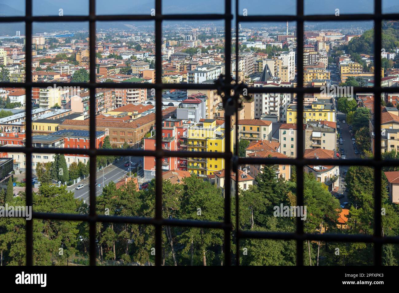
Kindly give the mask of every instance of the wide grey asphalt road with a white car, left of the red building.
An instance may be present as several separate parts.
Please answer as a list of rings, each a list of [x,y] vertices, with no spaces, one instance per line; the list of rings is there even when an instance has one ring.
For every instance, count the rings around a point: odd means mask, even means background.
[[[141,158],[140,157],[130,157],[131,162],[135,163],[135,164],[131,165],[131,170],[130,170],[131,174],[137,173],[137,166],[140,165],[140,159],[142,162],[142,157]],[[101,195],[104,185],[108,185],[108,183],[110,183],[111,181],[118,182],[126,174],[129,175],[129,173],[130,173],[129,167],[124,166],[124,164],[128,161],[129,161],[129,157],[126,157],[126,159],[120,158],[119,161],[105,167],[104,170],[100,170],[96,173],[96,183],[97,183],[97,186],[95,186],[96,196]],[[139,176],[143,175],[143,169],[139,170],[138,175]],[[79,189],[79,190],[75,189],[79,184],[84,184],[85,187],[82,189]],[[84,181],[81,181],[75,185],[72,185],[72,186],[68,187],[67,189],[74,193],[73,196],[76,199],[83,199],[83,201],[86,201],[86,203],[89,202],[89,189],[90,189],[89,178],[87,178]]]

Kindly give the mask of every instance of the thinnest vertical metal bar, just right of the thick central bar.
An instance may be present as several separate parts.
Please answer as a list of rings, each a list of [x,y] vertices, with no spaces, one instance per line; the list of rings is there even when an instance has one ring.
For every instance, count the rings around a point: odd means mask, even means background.
[[[239,35],[239,22],[238,22],[238,5],[239,0],[235,0],[235,81],[238,83],[238,35]],[[238,139],[238,103],[236,104],[235,111],[235,156],[239,156],[239,139]],[[237,165],[238,168],[238,165]],[[236,255],[235,255],[235,265],[240,265],[240,206],[239,206],[239,196],[238,196],[238,170],[235,170],[235,245],[236,245]]]

